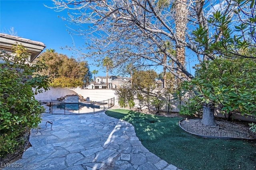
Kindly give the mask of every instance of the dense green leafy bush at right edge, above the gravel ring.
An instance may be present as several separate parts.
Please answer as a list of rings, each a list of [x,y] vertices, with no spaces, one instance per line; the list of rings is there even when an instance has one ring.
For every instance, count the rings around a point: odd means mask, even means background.
[[[256,115],[256,59],[218,58],[205,61],[196,78],[184,82],[184,92],[202,104],[227,113]]]

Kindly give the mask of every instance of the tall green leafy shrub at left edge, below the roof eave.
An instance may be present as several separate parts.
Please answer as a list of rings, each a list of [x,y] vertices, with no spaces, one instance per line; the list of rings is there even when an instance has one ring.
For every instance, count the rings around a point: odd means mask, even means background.
[[[34,94],[42,92],[41,88],[48,89],[48,77],[37,74],[46,69],[46,65],[40,61],[30,64],[30,54],[22,45],[13,48],[14,55],[0,53],[4,61],[0,64],[1,156],[14,152],[17,137],[27,128],[38,126],[44,107],[35,100]]]

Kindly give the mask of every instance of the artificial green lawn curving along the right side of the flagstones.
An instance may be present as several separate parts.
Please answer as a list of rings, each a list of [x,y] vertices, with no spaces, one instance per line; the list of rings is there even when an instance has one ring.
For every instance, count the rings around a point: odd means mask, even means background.
[[[256,169],[256,141],[205,139],[183,131],[178,117],[161,117],[127,109],[106,114],[134,125],[150,152],[183,170]]]

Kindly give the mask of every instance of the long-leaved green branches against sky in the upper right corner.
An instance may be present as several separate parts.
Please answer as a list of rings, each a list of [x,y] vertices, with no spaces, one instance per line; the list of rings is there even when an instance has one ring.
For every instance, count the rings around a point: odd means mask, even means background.
[[[256,13],[254,0],[234,0],[227,4],[232,14],[213,12],[207,27],[200,25],[192,34],[197,45],[214,59],[218,55],[230,58],[255,58]],[[223,10],[228,10],[224,8]],[[209,37],[210,29],[214,36]]]

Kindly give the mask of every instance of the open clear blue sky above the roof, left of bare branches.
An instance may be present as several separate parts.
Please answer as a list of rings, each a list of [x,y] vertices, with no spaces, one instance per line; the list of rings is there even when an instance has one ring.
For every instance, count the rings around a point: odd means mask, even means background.
[[[13,27],[19,37],[40,41],[46,45],[45,49],[55,49],[68,57],[80,58],[72,51],[61,49],[73,47],[73,43],[76,47],[84,45],[81,37],[71,37],[68,33],[66,25],[74,25],[62,20],[62,16],[67,17],[67,11],[56,12],[44,5],[53,6],[50,0],[0,0],[0,32],[9,33],[8,30]],[[90,71],[99,70],[98,76],[106,76],[104,70],[100,71],[101,68],[89,66]]]

